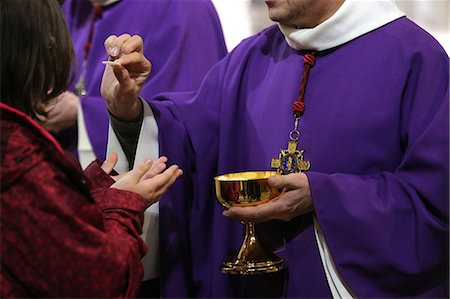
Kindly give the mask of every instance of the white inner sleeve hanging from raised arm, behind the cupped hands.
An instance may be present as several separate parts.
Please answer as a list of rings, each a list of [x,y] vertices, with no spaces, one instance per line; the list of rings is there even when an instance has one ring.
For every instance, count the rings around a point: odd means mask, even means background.
[[[139,134],[136,157],[134,165],[142,163],[146,158],[157,159],[159,157],[158,144],[158,126],[156,124],[153,111],[146,101],[142,101],[144,109],[144,119],[142,121],[141,132]],[[109,125],[108,132],[108,149],[110,152],[117,152],[119,155],[119,163],[114,168],[118,172],[125,172],[128,170],[128,163],[125,154],[117,139],[116,133]],[[159,204],[151,205],[144,213],[144,225],[142,228],[142,239],[148,245],[147,254],[142,258],[144,266],[143,280],[149,280],[159,277]]]

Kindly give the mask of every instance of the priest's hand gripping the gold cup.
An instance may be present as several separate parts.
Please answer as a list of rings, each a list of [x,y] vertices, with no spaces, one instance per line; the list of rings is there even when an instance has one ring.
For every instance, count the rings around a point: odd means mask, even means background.
[[[304,173],[269,177],[269,185],[282,190],[282,193],[258,206],[232,207],[223,215],[258,223],[272,219],[289,221],[314,210],[308,178]]]

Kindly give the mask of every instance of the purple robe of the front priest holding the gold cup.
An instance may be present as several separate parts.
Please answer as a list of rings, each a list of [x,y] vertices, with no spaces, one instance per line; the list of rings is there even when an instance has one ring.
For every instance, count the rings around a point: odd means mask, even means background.
[[[222,216],[213,177],[270,170],[293,127],[303,56],[273,26],[214,66],[198,92],[150,101],[160,153],[184,170],[160,203],[163,284],[183,264],[197,298],[331,296],[312,214],[257,226],[286,271],[220,272],[243,225]],[[310,71],[299,149],[331,257],[359,298],[448,296],[448,84],[447,54],[404,17],[319,53]],[[180,228],[189,235],[171,234]],[[171,250],[180,240],[189,261]]]

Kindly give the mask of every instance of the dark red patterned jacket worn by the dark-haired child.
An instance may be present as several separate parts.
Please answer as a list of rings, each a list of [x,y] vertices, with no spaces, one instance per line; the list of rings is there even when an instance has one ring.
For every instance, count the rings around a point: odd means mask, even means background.
[[[0,103],[1,297],[135,297],[144,200]],[[93,187],[91,187],[93,186]]]

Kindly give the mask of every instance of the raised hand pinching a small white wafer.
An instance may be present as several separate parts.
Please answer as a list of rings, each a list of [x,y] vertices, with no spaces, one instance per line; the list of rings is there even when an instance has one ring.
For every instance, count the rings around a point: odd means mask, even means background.
[[[102,96],[115,117],[135,120],[142,109],[138,97],[152,67],[143,55],[143,40],[138,35],[111,35],[105,40],[105,48],[109,60],[116,63],[105,67]]]

